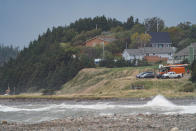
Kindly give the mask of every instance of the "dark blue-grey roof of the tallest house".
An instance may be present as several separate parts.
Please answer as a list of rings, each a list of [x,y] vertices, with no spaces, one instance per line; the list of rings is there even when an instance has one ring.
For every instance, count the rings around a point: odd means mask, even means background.
[[[150,32],[152,37],[150,43],[171,43],[171,39],[168,32]]]

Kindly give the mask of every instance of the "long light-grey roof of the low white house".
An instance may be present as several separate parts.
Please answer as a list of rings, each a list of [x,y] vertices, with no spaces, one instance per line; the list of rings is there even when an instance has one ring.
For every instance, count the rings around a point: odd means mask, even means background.
[[[129,55],[143,55],[146,53],[149,54],[169,54],[169,53],[175,53],[176,49],[171,47],[165,47],[165,48],[155,48],[155,47],[145,47],[145,48],[139,48],[139,49],[125,49]]]

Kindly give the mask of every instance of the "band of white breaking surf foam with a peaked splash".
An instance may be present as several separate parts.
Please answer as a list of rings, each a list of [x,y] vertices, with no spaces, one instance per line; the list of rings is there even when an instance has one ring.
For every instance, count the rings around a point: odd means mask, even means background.
[[[42,105],[43,106],[43,105]],[[144,113],[151,112],[153,113],[154,110],[161,110],[163,113],[164,111],[166,113],[196,113],[196,105],[190,105],[190,106],[181,106],[181,105],[175,105],[171,101],[167,100],[162,95],[157,95],[154,97],[151,101],[148,101],[146,104],[142,105],[121,105],[121,104],[113,104],[108,102],[98,102],[95,104],[67,104],[67,103],[61,103],[61,104],[48,104],[45,107],[36,108],[36,105],[26,105],[25,107],[17,107],[17,106],[6,106],[6,105],[0,105],[0,112],[18,112],[18,111],[32,111],[32,112],[39,112],[39,111],[63,111],[66,109],[71,110],[120,110],[120,109],[132,109],[131,112],[137,109],[142,109]]]

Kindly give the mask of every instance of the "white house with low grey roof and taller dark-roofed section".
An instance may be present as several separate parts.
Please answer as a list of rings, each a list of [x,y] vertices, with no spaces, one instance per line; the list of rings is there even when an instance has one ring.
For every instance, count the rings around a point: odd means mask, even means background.
[[[152,59],[167,60],[172,62],[176,48],[171,47],[172,42],[168,32],[150,32],[150,47],[139,49],[125,49],[122,56],[125,60]],[[151,57],[152,56],[152,57]]]

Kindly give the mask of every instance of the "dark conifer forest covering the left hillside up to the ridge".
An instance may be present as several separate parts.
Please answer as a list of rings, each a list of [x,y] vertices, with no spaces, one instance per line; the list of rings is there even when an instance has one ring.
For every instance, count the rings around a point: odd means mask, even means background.
[[[134,23],[133,18],[123,23],[100,16],[47,29],[37,40],[31,41],[16,59],[11,59],[0,68],[0,93],[4,93],[8,84],[12,91],[15,87],[16,93],[59,89],[80,69],[94,67],[93,59],[78,46],[102,31],[116,26],[128,30]]]

